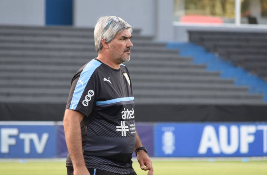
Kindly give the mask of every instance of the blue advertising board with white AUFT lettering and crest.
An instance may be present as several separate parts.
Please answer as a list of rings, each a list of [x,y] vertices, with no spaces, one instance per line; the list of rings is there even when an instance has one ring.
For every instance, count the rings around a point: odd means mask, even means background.
[[[158,123],[154,156],[267,156],[267,123]]]

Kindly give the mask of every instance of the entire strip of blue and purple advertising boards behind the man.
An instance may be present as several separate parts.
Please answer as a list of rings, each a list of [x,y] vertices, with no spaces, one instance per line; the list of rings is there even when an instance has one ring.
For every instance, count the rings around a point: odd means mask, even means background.
[[[266,122],[137,122],[135,126],[151,157],[267,156]],[[0,122],[0,158],[67,154],[62,122]]]

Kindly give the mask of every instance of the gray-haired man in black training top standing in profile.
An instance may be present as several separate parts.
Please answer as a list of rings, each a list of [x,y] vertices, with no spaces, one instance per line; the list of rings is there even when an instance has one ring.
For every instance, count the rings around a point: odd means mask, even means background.
[[[132,26],[115,16],[95,26],[98,56],[72,79],[64,116],[69,155],[68,175],[136,175],[132,151],[140,167],[153,174],[150,158],[135,130],[134,95],[128,69]]]

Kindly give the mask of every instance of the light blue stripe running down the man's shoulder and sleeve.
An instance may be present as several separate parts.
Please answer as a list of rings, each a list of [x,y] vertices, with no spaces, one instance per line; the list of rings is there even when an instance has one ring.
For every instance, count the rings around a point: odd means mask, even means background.
[[[92,74],[100,66],[100,62],[97,60],[91,60],[83,69],[83,71],[80,74],[80,78],[76,84],[72,100],[70,103],[70,109],[76,109],[80,98],[82,96],[82,93],[84,91],[84,88],[86,87],[89,79],[91,78]]]

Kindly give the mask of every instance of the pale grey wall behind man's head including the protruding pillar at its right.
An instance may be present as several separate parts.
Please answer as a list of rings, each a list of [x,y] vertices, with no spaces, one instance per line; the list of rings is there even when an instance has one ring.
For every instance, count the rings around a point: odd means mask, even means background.
[[[135,28],[142,29],[141,34],[154,36],[156,40],[173,39],[173,0],[103,0],[74,1],[74,26],[94,27],[101,16],[119,16]]]

